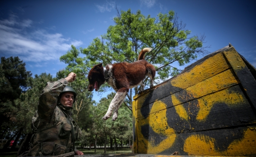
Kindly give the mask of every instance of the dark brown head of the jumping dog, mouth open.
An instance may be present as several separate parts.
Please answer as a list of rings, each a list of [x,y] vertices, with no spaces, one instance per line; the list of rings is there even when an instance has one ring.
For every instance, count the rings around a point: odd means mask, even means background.
[[[93,68],[88,73],[89,86],[88,91],[98,91],[100,86],[104,84],[104,73],[102,63],[93,66]]]

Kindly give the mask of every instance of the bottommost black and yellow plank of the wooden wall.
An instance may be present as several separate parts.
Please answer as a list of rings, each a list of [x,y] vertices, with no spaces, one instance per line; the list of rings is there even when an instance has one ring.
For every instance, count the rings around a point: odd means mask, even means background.
[[[171,139],[171,140],[170,140]],[[256,126],[141,137],[138,153],[207,156],[255,156]]]

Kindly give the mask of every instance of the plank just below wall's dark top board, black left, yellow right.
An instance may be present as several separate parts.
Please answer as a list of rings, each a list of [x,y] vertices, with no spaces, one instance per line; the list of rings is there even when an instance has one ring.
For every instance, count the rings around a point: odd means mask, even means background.
[[[143,101],[143,103],[137,102],[135,107],[136,110],[143,107],[144,105],[154,102],[156,99],[162,99],[170,95],[170,93],[176,93],[184,88],[197,84],[205,79],[213,77],[222,71],[231,68],[226,62],[222,53],[214,54],[211,57],[206,57],[201,60],[200,63],[193,66],[191,69],[187,69],[170,81],[165,82],[157,86],[154,90],[144,93],[141,95],[135,95],[133,100]],[[183,86],[181,86],[183,85]],[[180,86],[181,88],[178,88]]]

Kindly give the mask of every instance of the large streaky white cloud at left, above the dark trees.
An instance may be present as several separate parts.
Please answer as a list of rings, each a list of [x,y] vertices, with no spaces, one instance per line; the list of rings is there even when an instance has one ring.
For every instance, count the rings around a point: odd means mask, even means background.
[[[60,33],[51,34],[43,29],[27,31],[32,24],[31,20],[19,20],[15,15],[0,20],[1,56],[18,56],[24,62],[59,60],[71,44],[82,44],[81,41],[64,38]]]

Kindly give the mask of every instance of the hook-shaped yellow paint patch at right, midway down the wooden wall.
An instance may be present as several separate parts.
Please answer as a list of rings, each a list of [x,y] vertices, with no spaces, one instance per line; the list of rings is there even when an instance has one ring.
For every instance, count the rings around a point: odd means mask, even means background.
[[[206,95],[202,98],[197,99],[199,111],[197,113],[196,119],[203,122],[207,119],[211,108],[214,104],[225,103],[230,108],[236,107],[235,105],[248,103],[242,93],[237,91],[230,91],[229,89],[224,89],[216,93]],[[245,102],[246,101],[246,102]]]

